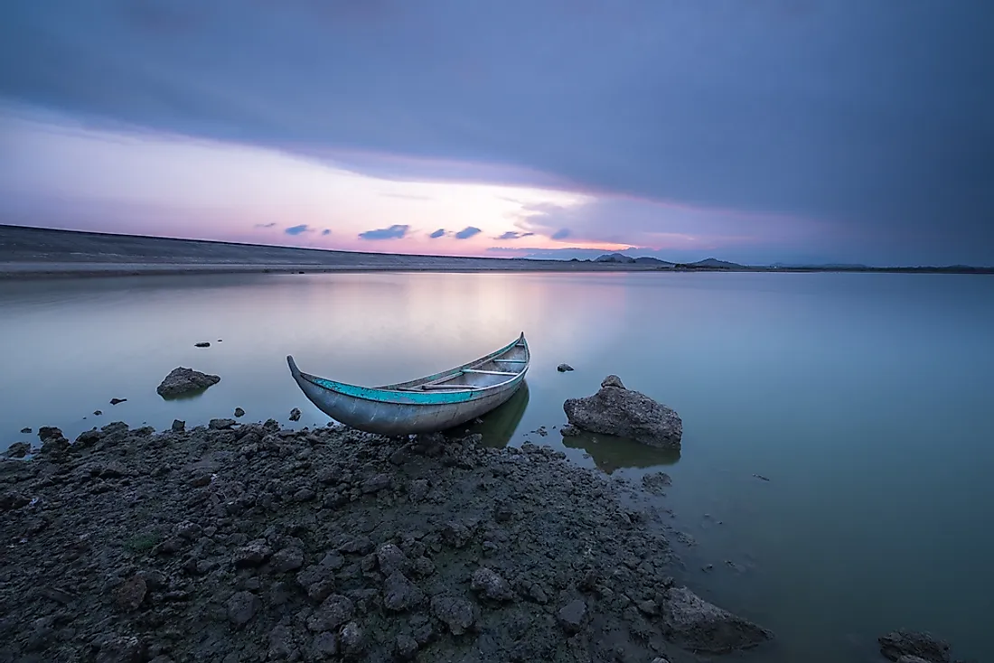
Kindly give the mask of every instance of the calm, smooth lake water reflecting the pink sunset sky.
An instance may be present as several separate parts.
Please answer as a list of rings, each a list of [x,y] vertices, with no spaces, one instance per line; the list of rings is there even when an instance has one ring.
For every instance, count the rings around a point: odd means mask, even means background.
[[[521,331],[533,353],[528,390],[488,417],[487,442],[527,437],[636,482],[669,473],[661,505],[697,542],[675,544],[687,580],[773,629],[771,658],[879,661],[875,637],[904,626],[949,639],[960,658],[994,660],[994,277],[2,282],[0,448],[29,439],[23,426],[163,428],[236,407],[245,420],[284,425],[298,407],[299,425],[323,424],[287,354],[304,371],[385,384],[461,364]],[[561,362],[576,371],[557,373]],[[176,366],[222,381],[163,401],[155,388]],[[563,401],[611,373],[681,414],[681,454],[603,439],[564,446],[552,430],[565,422]],[[540,425],[552,434],[529,432]]]

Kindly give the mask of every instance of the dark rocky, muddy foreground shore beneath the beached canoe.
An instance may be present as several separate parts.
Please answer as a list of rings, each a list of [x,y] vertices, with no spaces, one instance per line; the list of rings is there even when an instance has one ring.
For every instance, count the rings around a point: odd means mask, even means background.
[[[0,462],[0,661],[676,663],[772,635],[675,586],[657,515],[548,447],[39,436]]]

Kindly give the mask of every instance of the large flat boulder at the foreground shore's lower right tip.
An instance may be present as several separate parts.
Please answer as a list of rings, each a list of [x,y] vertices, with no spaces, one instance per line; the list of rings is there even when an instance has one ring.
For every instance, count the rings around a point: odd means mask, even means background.
[[[759,645],[772,631],[709,603],[687,587],[672,587],[663,604],[663,628],[673,644],[725,654]]]

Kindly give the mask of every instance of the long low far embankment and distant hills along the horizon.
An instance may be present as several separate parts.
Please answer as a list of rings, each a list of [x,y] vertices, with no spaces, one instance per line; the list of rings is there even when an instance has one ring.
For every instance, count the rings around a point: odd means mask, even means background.
[[[377,253],[0,225],[0,280],[210,273],[782,272],[994,274],[994,267],[707,266]]]

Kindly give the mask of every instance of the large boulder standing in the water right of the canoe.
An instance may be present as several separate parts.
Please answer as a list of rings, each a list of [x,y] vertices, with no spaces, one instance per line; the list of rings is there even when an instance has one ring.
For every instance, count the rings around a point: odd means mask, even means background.
[[[664,448],[680,448],[680,415],[646,395],[625,389],[617,376],[607,376],[600,390],[563,404],[570,423],[582,430],[627,437]]]

